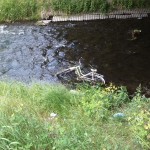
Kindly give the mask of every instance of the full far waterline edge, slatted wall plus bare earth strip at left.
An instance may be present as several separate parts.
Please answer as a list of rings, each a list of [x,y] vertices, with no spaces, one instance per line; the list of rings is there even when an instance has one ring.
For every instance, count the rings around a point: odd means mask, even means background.
[[[132,10],[115,10],[109,13],[80,13],[80,14],[64,14],[64,13],[50,13],[50,19],[42,18],[38,19],[24,19],[17,21],[0,21],[0,24],[11,24],[11,23],[34,23],[36,25],[48,25],[51,22],[69,22],[69,21],[92,21],[92,20],[104,20],[104,19],[142,19],[150,17],[150,8],[145,9],[132,9]],[[48,16],[49,17],[49,16]]]

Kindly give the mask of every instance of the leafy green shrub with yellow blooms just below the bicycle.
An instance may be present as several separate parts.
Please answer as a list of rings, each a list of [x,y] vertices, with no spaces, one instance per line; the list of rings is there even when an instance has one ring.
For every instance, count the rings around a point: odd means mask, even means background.
[[[93,119],[107,120],[110,111],[129,100],[126,88],[112,84],[108,88],[86,86],[80,90],[84,93],[80,101],[83,112]]]

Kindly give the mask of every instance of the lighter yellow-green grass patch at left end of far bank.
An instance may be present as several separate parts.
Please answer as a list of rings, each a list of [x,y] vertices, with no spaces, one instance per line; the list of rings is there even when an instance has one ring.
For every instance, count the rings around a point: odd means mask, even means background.
[[[39,4],[36,0],[1,0],[0,21],[36,19]]]

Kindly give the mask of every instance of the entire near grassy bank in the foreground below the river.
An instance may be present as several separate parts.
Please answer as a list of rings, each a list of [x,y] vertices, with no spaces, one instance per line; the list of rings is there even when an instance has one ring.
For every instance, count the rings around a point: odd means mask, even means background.
[[[150,148],[150,101],[125,88],[0,82],[0,149]],[[115,118],[115,113],[124,113]],[[56,113],[56,117],[50,114]]]

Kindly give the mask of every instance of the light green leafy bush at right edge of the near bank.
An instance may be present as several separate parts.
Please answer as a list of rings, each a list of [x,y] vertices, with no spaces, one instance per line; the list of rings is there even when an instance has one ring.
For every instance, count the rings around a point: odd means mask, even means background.
[[[128,112],[128,122],[135,140],[143,149],[150,148],[150,99],[141,96],[140,91],[133,97]]]

